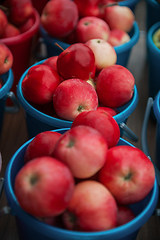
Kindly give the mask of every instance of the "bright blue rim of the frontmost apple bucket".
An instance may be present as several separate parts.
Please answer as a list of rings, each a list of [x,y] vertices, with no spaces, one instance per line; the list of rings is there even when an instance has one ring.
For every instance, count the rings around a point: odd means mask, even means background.
[[[63,128],[63,129],[57,129],[57,130],[54,130],[54,131],[59,131],[59,130],[68,130],[68,128]],[[29,142],[31,141],[32,139],[28,140],[26,143],[24,143],[15,153],[14,155],[11,157],[8,165],[7,165],[7,168],[6,168],[6,172],[5,172],[5,179],[7,179],[7,187],[6,187],[6,181],[4,181],[4,188],[5,188],[5,193],[6,193],[6,188],[9,189],[10,191],[10,195],[12,195],[12,201],[14,202],[13,205],[14,207],[16,208],[16,210],[18,209],[18,211],[20,210],[20,217],[23,216],[24,217],[24,220],[25,222],[28,224],[28,221],[30,223],[30,221],[33,221],[33,224],[32,227],[33,228],[33,225],[34,225],[34,228],[36,228],[36,226],[41,226],[39,227],[39,233],[43,233],[43,228],[47,228],[47,236],[50,236],[50,232],[52,232],[53,234],[53,230],[56,230],[56,232],[59,232],[59,233],[63,233],[63,234],[70,234],[70,235],[76,235],[76,236],[87,236],[87,237],[95,237],[95,236],[104,236],[107,234],[108,237],[112,236],[113,233],[114,235],[116,235],[117,238],[115,239],[119,239],[119,236],[122,237],[125,237],[126,235],[124,234],[124,230],[130,230],[130,234],[132,234],[133,232],[137,231],[140,229],[140,227],[149,219],[148,218],[144,218],[144,216],[148,215],[148,213],[152,214],[154,209],[153,209],[153,205],[157,204],[157,201],[158,201],[158,184],[157,184],[157,180],[155,179],[155,183],[154,183],[154,186],[153,186],[153,189],[151,190],[152,191],[152,195],[151,195],[151,198],[149,200],[149,203],[147,204],[147,206],[143,209],[142,212],[140,212],[135,219],[131,220],[130,222],[122,225],[122,226],[119,226],[119,227],[116,227],[114,229],[110,229],[110,230],[106,230],[106,231],[101,231],[101,232],[78,232],[78,231],[70,231],[70,230],[66,230],[66,229],[61,229],[61,228],[57,228],[57,227],[54,227],[54,226],[50,226],[50,225],[47,225],[43,222],[40,222],[38,219],[34,218],[33,216],[29,215],[28,213],[26,213],[21,207],[20,205],[18,204],[18,201],[16,199],[16,196],[14,194],[14,191],[13,191],[13,188],[11,187],[12,184],[11,184],[11,169],[12,169],[12,166],[13,166],[13,162],[14,162],[14,159],[16,158],[16,156],[21,152],[21,150],[24,148],[24,147],[27,147],[27,145],[29,144]],[[127,142],[126,140],[120,138],[120,141],[122,141],[123,143],[127,143],[131,146],[133,146],[131,143]],[[8,174],[9,173],[9,174]],[[149,193],[150,194],[150,193]],[[8,197],[8,195],[6,194],[6,196]],[[14,210],[13,210],[13,213],[15,214]],[[16,215],[16,214],[15,214]],[[16,215],[18,216],[18,215]],[[18,216],[19,217],[19,216]],[[143,221],[141,220],[141,218],[143,217]],[[140,223],[141,222],[141,225],[140,226],[137,226],[137,222]],[[143,222],[143,223],[142,223]],[[116,233],[116,234],[115,234]],[[122,234],[123,233],[123,234]],[[121,234],[121,235],[120,235]]]

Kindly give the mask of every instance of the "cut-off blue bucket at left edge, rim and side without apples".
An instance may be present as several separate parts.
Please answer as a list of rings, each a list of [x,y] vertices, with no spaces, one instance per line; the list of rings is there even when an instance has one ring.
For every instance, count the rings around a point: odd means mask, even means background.
[[[0,136],[1,136],[7,93],[10,92],[10,89],[13,85],[12,70],[10,69],[7,73],[0,75],[0,78],[2,79],[3,82],[3,86],[0,89]]]

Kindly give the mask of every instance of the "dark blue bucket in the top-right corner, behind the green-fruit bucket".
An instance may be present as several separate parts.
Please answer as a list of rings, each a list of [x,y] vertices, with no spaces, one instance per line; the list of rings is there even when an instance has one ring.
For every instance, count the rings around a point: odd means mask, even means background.
[[[156,0],[146,0],[146,29],[147,31],[155,23],[160,21],[160,4]]]

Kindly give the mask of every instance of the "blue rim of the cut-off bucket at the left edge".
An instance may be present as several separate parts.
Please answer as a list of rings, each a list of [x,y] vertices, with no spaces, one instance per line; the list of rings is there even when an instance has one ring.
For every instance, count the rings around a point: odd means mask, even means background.
[[[13,85],[13,80],[14,80],[13,79],[13,71],[11,68],[5,74],[7,74],[7,80],[5,81],[2,88],[0,89],[0,99],[3,98],[10,91],[10,89]],[[3,75],[0,75],[0,77],[2,77]],[[2,80],[3,80],[3,77],[2,77]]]

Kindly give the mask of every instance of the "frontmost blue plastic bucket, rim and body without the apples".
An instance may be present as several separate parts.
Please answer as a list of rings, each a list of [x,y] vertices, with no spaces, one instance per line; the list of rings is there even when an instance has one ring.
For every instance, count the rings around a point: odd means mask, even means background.
[[[67,129],[55,130],[64,133]],[[10,159],[4,178],[4,190],[12,215],[15,216],[20,240],[135,240],[140,228],[152,216],[158,202],[158,185],[155,180],[154,187],[148,196],[139,203],[130,205],[136,218],[125,225],[115,229],[101,232],[77,232],[49,226],[31,215],[19,206],[14,194],[13,185],[17,172],[23,166],[23,157],[26,147],[31,140],[24,143]],[[118,145],[131,145],[120,139]]]

